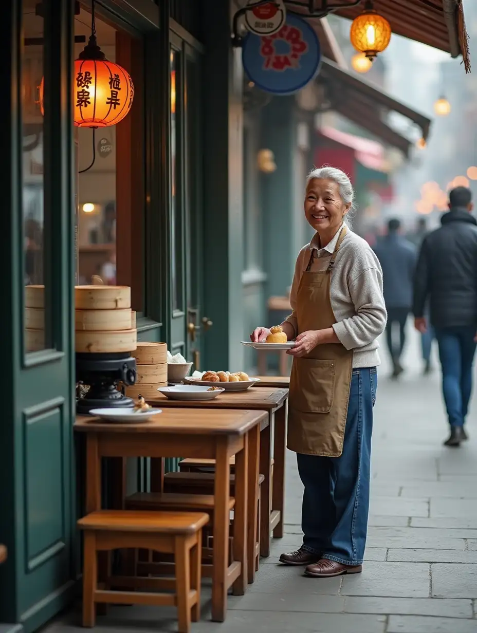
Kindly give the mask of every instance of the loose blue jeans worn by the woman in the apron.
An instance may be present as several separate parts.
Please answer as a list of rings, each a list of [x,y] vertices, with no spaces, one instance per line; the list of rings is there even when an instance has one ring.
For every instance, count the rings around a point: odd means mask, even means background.
[[[377,386],[376,367],[353,369],[340,457],[296,455],[305,486],[303,547],[344,565],[361,565],[364,557]]]

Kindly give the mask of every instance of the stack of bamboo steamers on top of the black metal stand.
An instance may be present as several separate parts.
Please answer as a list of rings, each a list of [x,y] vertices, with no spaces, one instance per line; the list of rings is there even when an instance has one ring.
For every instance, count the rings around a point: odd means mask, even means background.
[[[132,353],[136,344],[136,313],[133,325],[129,286],[75,286],[77,353]]]

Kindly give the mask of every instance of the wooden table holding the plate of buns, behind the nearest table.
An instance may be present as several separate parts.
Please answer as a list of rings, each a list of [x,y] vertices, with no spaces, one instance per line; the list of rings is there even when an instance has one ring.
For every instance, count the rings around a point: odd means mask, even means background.
[[[219,383],[217,383],[219,385]],[[251,387],[246,391],[229,391],[205,402],[170,400],[158,394],[148,399],[152,406],[161,408],[190,407],[207,409],[253,409],[267,411],[269,425],[260,434],[260,473],[265,480],[261,488],[260,555],[270,556],[270,537],[283,536],[284,479],[286,452],[286,404],[288,389]],[[272,441],[274,432],[274,467],[272,475]],[[182,451],[183,453],[184,451]],[[182,455],[182,453],[179,453]],[[184,456],[184,455],[182,455]],[[271,494],[270,494],[271,492]]]

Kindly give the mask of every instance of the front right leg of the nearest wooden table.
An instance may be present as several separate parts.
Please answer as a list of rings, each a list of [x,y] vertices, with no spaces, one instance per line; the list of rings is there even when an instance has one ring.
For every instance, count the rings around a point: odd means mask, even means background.
[[[229,567],[230,463],[227,437],[218,437],[215,447],[213,515],[212,620],[224,622],[227,613],[227,570]]]

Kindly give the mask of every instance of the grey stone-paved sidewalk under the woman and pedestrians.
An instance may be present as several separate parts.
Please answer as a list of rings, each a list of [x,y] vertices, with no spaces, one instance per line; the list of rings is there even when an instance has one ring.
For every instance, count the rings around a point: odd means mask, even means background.
[[[302,533],[302,486],[289,454],[286,535],[274,542],[246,596],[229,598],[227,622],[209,622],[206,603],[194,633],[477,633],[476,406],[470,441],[444,448],[438,373],[420,375],[417,336],[409,334],[403,379],[391,382],[386,364],[379,373],[363,573],[308,579],[301,568],[277,565]],[[47,633],[80,630],[79,614],[72,613]],[[175,630],[174,611],[113,608],[96,630]]]

